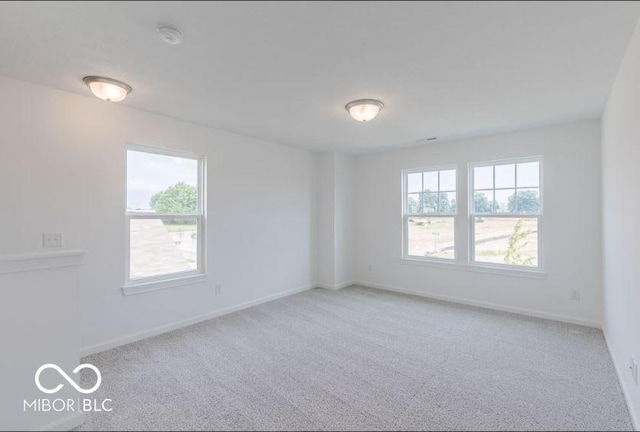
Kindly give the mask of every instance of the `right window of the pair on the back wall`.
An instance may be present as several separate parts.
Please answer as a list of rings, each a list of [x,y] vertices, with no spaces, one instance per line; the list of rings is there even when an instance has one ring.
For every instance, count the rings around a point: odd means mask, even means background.
[[[475,163],[469,171],[471,264],[541,268],[542,160]]]

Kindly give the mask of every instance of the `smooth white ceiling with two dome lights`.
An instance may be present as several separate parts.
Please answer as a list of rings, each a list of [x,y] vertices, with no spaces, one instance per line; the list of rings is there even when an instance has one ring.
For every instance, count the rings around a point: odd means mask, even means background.
[[[638,2],[2,2],[0,74],[312,150],[598,117]],[[158,24],[180,28],[162,42]],[[344,110],[385,103],[371,123]]]

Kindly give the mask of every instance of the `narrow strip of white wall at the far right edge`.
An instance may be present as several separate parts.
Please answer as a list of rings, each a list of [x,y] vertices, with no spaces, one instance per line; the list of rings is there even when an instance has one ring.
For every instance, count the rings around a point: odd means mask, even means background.
[[[628,365],[640,359],[640,26],[602,118],[602,160],[604,330],[638,428],[640,389]]]

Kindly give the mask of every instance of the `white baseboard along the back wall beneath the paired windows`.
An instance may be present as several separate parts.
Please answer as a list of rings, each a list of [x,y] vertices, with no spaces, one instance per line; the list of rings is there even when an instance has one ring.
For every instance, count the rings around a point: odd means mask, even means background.
[[[435,293],[431,293],[431,292],[416,291],[416,290],[400,288],[400,287],[395,287],[395,286],[390,286],[390,285],[381,285],[381,284],[374,283],[374,282],[362,282],[362,281],[360,281],[360,282],[355,282],[354,284],[355,285],[361,285],[361,286],[368,287],[368,288],[384,290],[384,291],[393,291],[393,292],[397,292],[397,293],[401,293],[401,294],[409,294],[409,295],[415,295],[415,296],[419,296],[419,297],[426,297],[426,298],[431,298],[431,299],[434,299],[434,300],[442,300],[442,301],[447,301],[447,302],[451,302],[451,303],[460,303],[460,304],[464,304],[464,305],[468,305],[468,306],[477,306],[477,307],[481,307],[481,308],[484,308],[484,309],[492,309],[492,310],[498,310],[498,311],[501,311],[501,312],[510,312],[510,313],[515,313],[515,314],[520,314],[520,315],[532,316],[532,317],[535,317],[535,318],[549,319],[549,320],[560,321],[560,322],[565,322],[565,323],[569,323],[569,324],[577,324],[577,325],[581,325],[581,326],[585,326],[585,327],[593,327],[593,328],[597,328],[597,329],[601,329],[602,328],[602,323],[600,323],[598,321],[585,320],[585,319],[582,319],[582,318],[570,317],[570,316],[565,316],[565,315],[550,314],[550,313],[547,313],[547,312],[540,312],[540,311],[535,311],[535,310],[531,310],[531,309],[524,309],[524,308],[518,308],[518,307],[513,307],[513,306],[505,306],[505,305],[500,305],[500,304],[495,304],[495,303],[480,302],[480,301],[475,301],[475,300],[467,300],[467,299],[463,299],[463,298],[460,298],[460,297],[446,296],[446,295],[435,294]]]

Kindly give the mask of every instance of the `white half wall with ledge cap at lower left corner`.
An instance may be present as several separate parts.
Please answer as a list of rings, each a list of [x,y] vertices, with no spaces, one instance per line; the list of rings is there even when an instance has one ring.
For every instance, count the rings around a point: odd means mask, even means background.
[[[59,392],[48,395],[34,378],[48,363],[74,377],[80,359],[78,265],[83,256],[83,251],[0,255],[0,430],[70,430],[82,423],[77,406],[43,412],[25,409],[24,403],[78,399],[79,393],[64,381]],[[51,370],[39,377],[49,389],[61,380]]]

